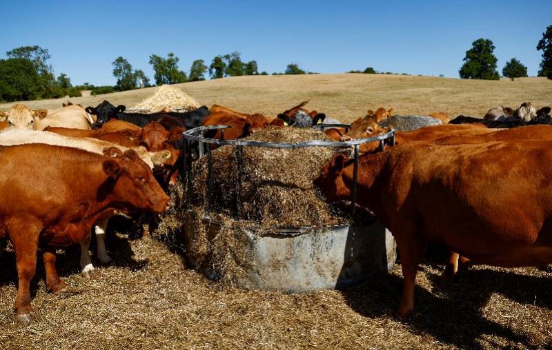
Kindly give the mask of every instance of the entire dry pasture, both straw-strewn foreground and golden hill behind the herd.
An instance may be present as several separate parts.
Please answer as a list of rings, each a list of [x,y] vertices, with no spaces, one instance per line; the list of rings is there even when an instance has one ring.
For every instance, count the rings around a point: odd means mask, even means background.
[[[447,112],[482,116],[493,105],[551,105],[552,81],[460,81],[423,76],[335,74],[244,76],[179,85],[199,103],[275,116],[296,103],[342,121],[380,105],[397,114]],[[155,88],[70,99],[127,107]],[[30,107],[59,107],[61,99]],[[0,105],[6,109],[9,105]],[[175,241],[176,239],[176,241]],[[178,238],[108,236],[114,262],[79,275],[76,247],[59,251],[68,293],[46,291],[41,263],[32,287],[33,322],[13,316],[17,273],[10,249],[0,258],[1,349],[472,349],[538,348],[552,343],[552,274],[536,268],[464,269],[440,285],[446,256],[426,258],[416,309],[393,312],[400,265],[342,291],[283,294],[220,285],[186,269]]]

